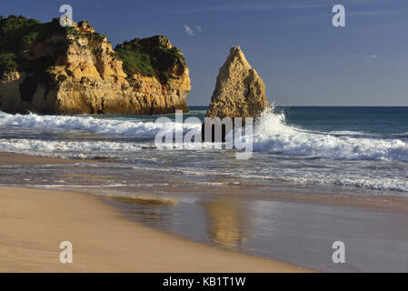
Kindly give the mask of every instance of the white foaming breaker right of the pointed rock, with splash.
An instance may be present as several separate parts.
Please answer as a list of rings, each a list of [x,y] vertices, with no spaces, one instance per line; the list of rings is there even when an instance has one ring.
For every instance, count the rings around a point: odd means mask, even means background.
[[[286,125],[284,115],[273,113],[265,113],[255,125],[254,150],[289,156],[408,162],[406,141],[307,133]]]

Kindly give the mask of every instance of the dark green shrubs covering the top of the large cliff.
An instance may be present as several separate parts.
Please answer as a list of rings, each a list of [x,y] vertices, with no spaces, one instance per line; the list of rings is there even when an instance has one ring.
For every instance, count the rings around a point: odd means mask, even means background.
[[[53,55],[35,60],[23,56],[33,45],[53,34],[70,35],[74,38],[55,44]],[[5,71],[20,70],[45,77],[46,69],[55,64],[57,55],[68,45],[76,42],[77,37],[90,37],[102,42],[106,36],[98,33],[81,33],[75,27],[62,27],[59,24],[59,18],[43,24],[24,16],[0,17],[0,74]],[[176,47],[169,48],[169,46],[170,41],[164,35],[136,38],[131,42],[116,45],[114,55],[122,60],[126,75],[154,76],[165,84],[170,78],[177,77],[169,73],[174,65],[185,65],[184,56],[180,51]]]

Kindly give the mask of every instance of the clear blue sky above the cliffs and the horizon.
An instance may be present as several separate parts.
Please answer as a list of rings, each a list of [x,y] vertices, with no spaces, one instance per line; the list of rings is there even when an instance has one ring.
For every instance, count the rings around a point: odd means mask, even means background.
[[[189,105],[209,104],[231,45],[277,105],[408,105],[408,0],[14,0],[0,15],[50,21],[64,4],[114,45],[170,37],[190,67]],[[332,25],[336,4],[345,27]]]

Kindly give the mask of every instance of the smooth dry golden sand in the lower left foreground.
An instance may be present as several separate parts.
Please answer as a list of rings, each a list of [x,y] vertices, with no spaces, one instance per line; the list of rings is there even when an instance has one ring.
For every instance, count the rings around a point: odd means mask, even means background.
[[[0,272],[305,272],[124,219],[96,196],[0,187]],[[74,263],[59,261],[62,241]]]

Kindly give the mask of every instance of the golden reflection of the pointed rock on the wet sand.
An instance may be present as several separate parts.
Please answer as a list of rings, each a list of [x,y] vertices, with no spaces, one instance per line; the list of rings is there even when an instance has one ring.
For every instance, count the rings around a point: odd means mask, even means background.
[[[219,197],[201,203],[207,234],[217,245],[242,246],[248,236],[248,216],[242,203],[233,197]]]

